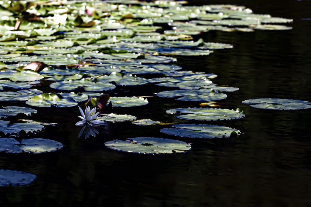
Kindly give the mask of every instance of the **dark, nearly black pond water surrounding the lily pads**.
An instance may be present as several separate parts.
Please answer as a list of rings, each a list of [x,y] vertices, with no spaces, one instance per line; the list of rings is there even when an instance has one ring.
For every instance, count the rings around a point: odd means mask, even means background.
[[[234,141],[183,138],[159,132],[162,126],[127,122],[107,123],[95,138],[84,140],[77,138],[81,127],[74,125],[79,121],[76,107],[40,108],[35,120],[58,125],[31,138],[57,140],[64,148],[40,155],[1,153],[0,169],[37,175],[29,186],[1,187],[1,206],[311,206],[311,110],[262,110],[241,103],[252,98],[311,101],[311,20],[305,20],[311,18],[311,1],[190,3],[245,5],[254,13],[294,19],[289,31],[209,31],[204,34],[205,41],[230,43],[234,49],[218,50],[210,56],[178,57],[176,65],[184,70],[215,73],[215,83],[240,88],[217,103],[228,109],[239,107],[246,117],[205,123],[237,128],[243,134]],[[122,95],[150,96],[167,89],[138,86]],[[137,119],[193,123],[167,115],[165,110],[199,106],[160,97],[148,100],[146,106],[113,112]],[[104,146],[108,140],[140,136],[192,142],[193,149],[184,154],[139,155]]]

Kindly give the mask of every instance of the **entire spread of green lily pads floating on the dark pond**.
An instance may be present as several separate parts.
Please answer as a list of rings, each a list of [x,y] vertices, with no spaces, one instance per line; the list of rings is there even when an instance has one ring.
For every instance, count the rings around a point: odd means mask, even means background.
[[[121,87],[155,84],[174,90],[156,93],[158,97],[177,98],[179,101],[216,101],[225,99],[228,92],[239,88],[217,86],[212,82],[216,74],[182,70],[172,65],[171,56],[206,56],[217,49],[233,48],[230,44],[204,42],[200,34],[209,30],[226,32],[254,32],[254,29],[288,30],[281,25],[293,20],[253,14],[244,6],[203,5],[187,6],[186,1],[136,0],[58,0],[58,1],[2,1],[0,8],[0,101],[25,101],[32,107],[72,107],[80,102],[95,107],[133,107],[148,104],[144,97],[110,97]],[[154,76],[146,79],[145,75]],[[48,83],[50,91],[40,91]],[[34,88],[32,88],[34,87]],[[178,88],[178,89],[177,89]],[[177,90],[176,90],[177,89]],[[75,90],[75,92],[71,92]],[[104,106],[97,102],[105,97]],[[96,98],[99,97],[99,98]],[[270,102],[269,102],[270,101]],[[263,108],[306,108],[308,103],[286,100],[246,100]],[[271,105],[272,103],[272,105]],[[270,105],[269,105],[270,104]],[[80,104],[81,105],[81,104]],[[282,105],[282,107],[280,106]],[[255,107],[255,105],[252,105]],[[40,110],[39,108],[36,108]],[[237,136],[237,129],[207,124],[171,124],[132,115],[114,113],[90,114],[83,120],[132,121],[146,126],[171,125],[160,131],[169,135],[193,138],[222,138]],[[166,111],[177,118],[188,120],[228,120],[245,116],[244,112],[217,108],[178,108]],[[4,106],[1,119],[11,116],[30,116],[37,110],[26,107]],[[183,115],[181,115],[183,114]],[[83,115],[82,115],[83,116]],[[82,120],[82,122],[83,122]],[[16,119],[17,123],[0,120],[4,136],[38,133],[44,125],[30,119]],[[22,123],[21,123],[22,122]],[[81,123],[82,123],[81,122]],[[84,122],[83,122],[84,123]],[[79,136],[95,136],[94,126],[84,125]],[[174,154],[189,151],[189,143],[158,137],[136,137],[113,140],[105,146],[119,151],[141,154]],[[0,138],[0,151],[8,153],[43,153],[61,149],[53,140],[30,138]],[[23,185],[35,175],[18,171],[0,170],[0,186]]]

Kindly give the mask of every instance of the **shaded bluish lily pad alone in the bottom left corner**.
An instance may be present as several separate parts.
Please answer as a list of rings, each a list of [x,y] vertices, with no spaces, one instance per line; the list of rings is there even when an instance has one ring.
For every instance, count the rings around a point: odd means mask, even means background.
[[[28,185],[36,180],[37,176],[16,170],[0,169],[0,186]]]

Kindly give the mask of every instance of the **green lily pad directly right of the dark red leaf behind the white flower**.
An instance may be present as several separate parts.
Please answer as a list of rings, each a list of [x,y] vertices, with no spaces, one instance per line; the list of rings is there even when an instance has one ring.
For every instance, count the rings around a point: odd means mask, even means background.
[[[148,104],[148,100],[143,97],[110,97],[107,105],[111,101],[113,107],[132,107]]]

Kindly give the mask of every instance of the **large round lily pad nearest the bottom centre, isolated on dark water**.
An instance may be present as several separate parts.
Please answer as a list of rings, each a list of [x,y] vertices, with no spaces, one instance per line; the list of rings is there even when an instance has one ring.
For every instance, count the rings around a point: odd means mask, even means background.
[[[189,151],[192,147],[186,142],[157,137],[136,137],[126,141],[114,140],[105,142],[113,150],[139,154],[174,154]]]

